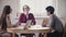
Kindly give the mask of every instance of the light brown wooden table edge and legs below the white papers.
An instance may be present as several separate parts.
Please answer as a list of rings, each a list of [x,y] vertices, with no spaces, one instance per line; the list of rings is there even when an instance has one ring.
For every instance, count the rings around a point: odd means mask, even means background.
[[[47,37],[50,29],[16,29],[16,28],[7,28],[9,33],[12,33],[12,37],[15,37],[14,34],[33,34],[33,33],[44,33],[44,37]]]

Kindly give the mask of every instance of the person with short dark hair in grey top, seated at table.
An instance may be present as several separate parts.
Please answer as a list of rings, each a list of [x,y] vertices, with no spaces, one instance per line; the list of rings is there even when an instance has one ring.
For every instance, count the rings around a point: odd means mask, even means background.
[[[50,5],[46,8],[46,11],[47,15],[50,16],[48,25],[52,30],[52,33],[47,34],[47,37],[63,37],[63,23],[54,14],[55,9]]]

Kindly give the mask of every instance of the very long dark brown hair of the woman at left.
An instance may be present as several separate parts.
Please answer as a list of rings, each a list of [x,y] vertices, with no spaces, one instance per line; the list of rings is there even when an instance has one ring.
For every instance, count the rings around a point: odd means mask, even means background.
[[[11,8],[10,5],[6,5],[2,11],[1,15],[1,29],[7,30],[7,15],[11,13]]]

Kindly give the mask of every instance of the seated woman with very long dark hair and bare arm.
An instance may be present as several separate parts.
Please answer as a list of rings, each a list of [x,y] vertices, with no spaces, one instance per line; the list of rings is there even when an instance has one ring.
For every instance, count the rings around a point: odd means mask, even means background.
[[[10,34],[7,33],[7,27],[11,26],[11,21],[10,21],[10,13],[12,9],[10,5],[6,5],[2,11],[1,15],[1,30],[3,30],[3,34],[1,35],[2,37],[11,37]]]

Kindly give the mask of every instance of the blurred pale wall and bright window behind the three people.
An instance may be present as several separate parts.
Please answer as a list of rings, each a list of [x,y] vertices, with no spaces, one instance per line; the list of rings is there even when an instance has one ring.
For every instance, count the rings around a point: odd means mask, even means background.
[[[0,16],[4,5],[11,5],[11,23],[15,24],[22,13],[23,5],[28,4],[36,18],[36,24],[42,24],[44,17],[47,17],[45,8],[53,5],[55,14],[66,23],[66,0],[0,0]]]

